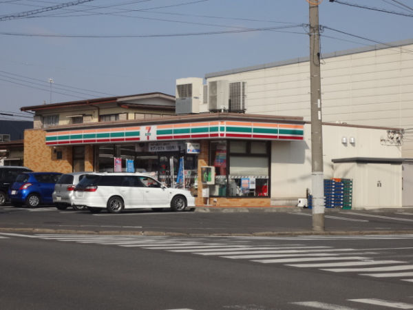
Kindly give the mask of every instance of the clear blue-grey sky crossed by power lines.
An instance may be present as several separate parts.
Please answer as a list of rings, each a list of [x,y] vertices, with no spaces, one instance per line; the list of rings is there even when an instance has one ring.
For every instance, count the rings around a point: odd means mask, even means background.
[[[307,0],[0,0],[0,121],[28,121],[20,108],[43,103],[174,95],[179,78],[308,56],[308,6]],[[413,1],[324,0],[319,23],[321,54],[412,39]]]

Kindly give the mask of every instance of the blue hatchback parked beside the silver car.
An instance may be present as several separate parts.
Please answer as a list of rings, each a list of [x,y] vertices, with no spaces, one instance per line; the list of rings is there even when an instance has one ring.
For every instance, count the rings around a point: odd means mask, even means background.
[[[52,205],[54,185],[62,174],[58,172],[24,172],[9,189],[9,198],[14,207],[27,205]]]

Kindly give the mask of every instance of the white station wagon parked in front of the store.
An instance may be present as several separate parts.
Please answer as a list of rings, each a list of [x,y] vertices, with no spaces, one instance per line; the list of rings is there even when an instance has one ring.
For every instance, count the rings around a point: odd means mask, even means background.
[[[86,205],[92,213],[107,209],[171,208],[184,211],[195,207],[195,198],[184,189],[168,188],[158,180],[140,173],[89,174],[74,188],[74,203]]]

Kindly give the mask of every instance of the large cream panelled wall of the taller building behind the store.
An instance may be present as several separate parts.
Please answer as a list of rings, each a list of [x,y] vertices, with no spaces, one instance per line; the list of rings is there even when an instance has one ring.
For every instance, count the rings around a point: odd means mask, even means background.
[[[367,48],[365,49],[367,50]],[[370,51],[344,51],[321,65],[324,122],[413,127],[413,43]],[[242,71],[240,70],[234,70]],[[207,74],[208,81],[246,81],[247,113],[303,116],[310,121],[308,59],[274,63],[244,72]],[[222,75],[221,75],[222,74]],[[220,76],[216,76],[220,75]],[[413,157],[413,134],[405,134],[403,157]]]

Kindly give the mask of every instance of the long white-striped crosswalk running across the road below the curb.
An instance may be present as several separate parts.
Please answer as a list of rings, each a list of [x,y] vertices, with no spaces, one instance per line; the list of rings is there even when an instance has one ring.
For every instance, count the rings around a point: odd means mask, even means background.
[[[114,236],[73,234],[6,234],[61,242],[114,245],[124,248],[141,248],[169,251],[176,254],[218,256],[230,260],[249,260],[260,264],[279,264],[294,268],[313,268],[334,273],[357,273],[370,278],[392,278],[413,282],[413,263],[403,260],[376,259],[379,251],[411,250],[413,247],[382,249],[339,248],[326,245],[303,245],[297,242],[277,242],[264,239],[258,244],[251,238],[170,237],[170,236]],[[407,238],[407,236],[399,236]],[[412,236],[410,236],[412,237]],[[0,237],[1,238],[1,237]],[[377,238],[377,236],[376,236]],[[295,241],[298,241],[296,239]],[[263,239],[261,239],[263,241]],[[408,258],[408,256],[406,256]]]

